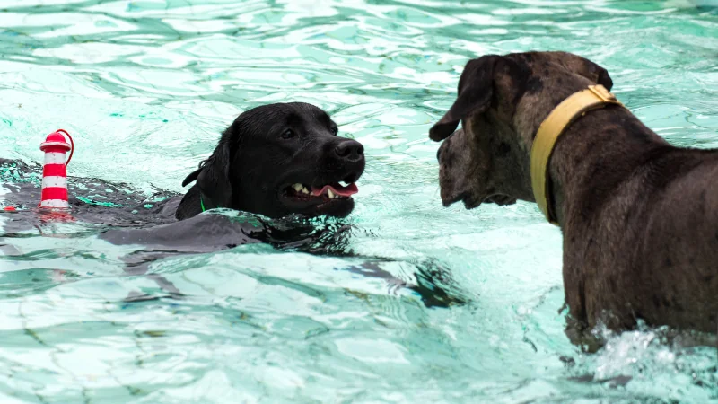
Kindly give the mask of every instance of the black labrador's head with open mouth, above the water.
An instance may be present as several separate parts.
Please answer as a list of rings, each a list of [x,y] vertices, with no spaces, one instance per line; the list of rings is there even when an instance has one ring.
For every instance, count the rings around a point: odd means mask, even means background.
[[[269,217],[349,215],[354,182],[364,170],[363,146],[337,132],[327,112],[307,103],[247,110],[182,185],[197,180],[207,207]],[[180,217],[180,209],[179,218],[189,217]]]

